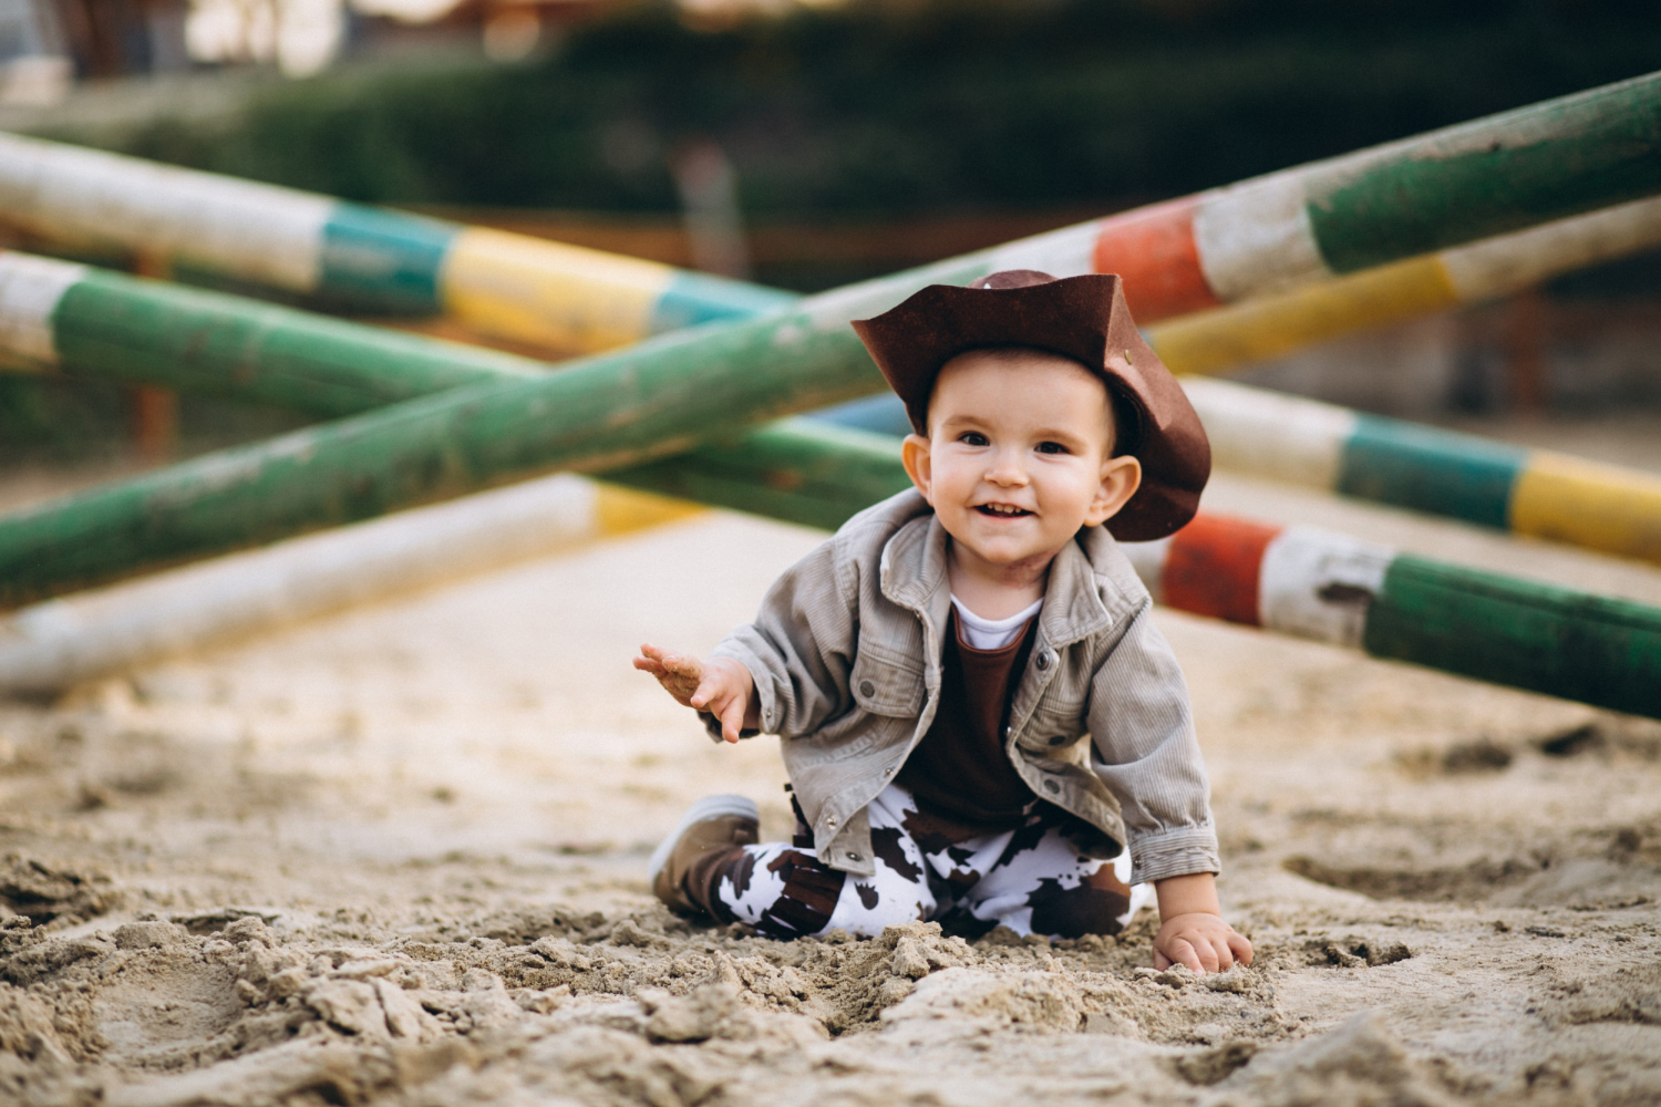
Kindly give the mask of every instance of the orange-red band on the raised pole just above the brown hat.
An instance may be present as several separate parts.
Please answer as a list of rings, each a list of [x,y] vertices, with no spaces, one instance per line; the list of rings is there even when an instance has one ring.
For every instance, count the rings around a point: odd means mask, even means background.
[[[1096,272],[1124,279],[1124,299],[1138,324],[1186,315],[1219,300],[1199,267],[1194,242],[1198,198],[1184,196],[1110,216],[1096,237]]]

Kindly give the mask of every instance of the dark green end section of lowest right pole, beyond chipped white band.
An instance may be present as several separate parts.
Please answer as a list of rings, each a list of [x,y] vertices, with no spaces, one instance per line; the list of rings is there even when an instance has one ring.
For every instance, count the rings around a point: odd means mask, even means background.
[[[1661,609],[1402,554],[1362,647],[1478,680],[1661,717]]]

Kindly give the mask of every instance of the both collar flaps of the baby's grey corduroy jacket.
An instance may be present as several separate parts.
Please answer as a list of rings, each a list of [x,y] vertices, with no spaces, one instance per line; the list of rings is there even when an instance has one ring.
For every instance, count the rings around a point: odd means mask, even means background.
[[[920,496],[919,496],[920,500]],[[933,511],[905,523],[882,548],[882,594],[924,617],[932,632],[945,626],[952,609],[947,579],[947,533]],[[1045,604],[1038,612],[1040,639],[1065,647],[1113,626],[1129,597],[1096,571],[1115,553],[1113,536],[1100,526],[1070,541],[1050,563]],[[1105,602],[1106,601],[1106,602]],[[1110,611],[1110,604],[1113,611]]]

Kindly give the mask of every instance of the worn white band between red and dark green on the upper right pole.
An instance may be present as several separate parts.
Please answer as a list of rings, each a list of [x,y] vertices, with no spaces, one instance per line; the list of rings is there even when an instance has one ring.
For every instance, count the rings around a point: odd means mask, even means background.
[[[1224,304],[1332,276],[1309,222],[1306,174],[1289,169],[1199,198],[1199,267]]]

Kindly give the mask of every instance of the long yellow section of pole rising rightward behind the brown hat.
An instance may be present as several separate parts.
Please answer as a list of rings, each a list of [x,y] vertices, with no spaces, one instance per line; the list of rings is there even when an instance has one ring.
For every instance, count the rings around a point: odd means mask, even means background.
[[[1447,271],[1430,254],[1173,319],[1149,327],[1148,340],[1174,373],[1221,373],[1457,302]]]

